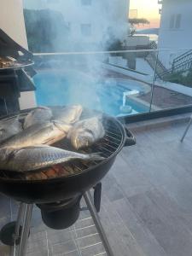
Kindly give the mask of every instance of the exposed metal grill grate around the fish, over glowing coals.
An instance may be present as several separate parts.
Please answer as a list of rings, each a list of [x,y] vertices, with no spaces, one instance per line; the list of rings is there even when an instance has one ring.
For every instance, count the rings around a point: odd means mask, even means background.
[[[99,152],[104,158],[110,157],[115,153],[119,145],[122,143],[122,131],[119,125],[112,119],[104,119],[103,126],[105,128],[105,136],[99,142],[95,143],[90,148],[85,148],[79,151],[80,153],[90,154]],[[67,150],[74,150],[67,139],[62,140],[60,143],[55,144],[58,148],[65,148]],[[99,161],[100,162],[100,161]],[[26,172],[25,174],[18,174],[14,172],[0,172],[0,177],[12,180],[43,180],[51,179],[55,177],[68,177],[72,175],[84,172],[91,166],[96,166],[98,161],[83,161],[83,160],[73,160],[69,163],[63,165],[52,166],[49,169],[39,172]]]

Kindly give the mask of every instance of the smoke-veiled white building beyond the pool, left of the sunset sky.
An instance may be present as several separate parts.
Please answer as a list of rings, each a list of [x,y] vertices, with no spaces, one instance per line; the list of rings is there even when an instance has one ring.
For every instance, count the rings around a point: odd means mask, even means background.
[[[67,50],[105,50],[107,43],[113,44],[113,40],[124,41],[130,29],[127,20],[128,0],[90,0],[90,5],[87,6],[82,2],[84,1],[24,0],[24,8],[61,12],[70,27],[69,37],[62,42]],[[54,24],[55,20],[51,22]],[[90,34],[87,36],[82,35],[81,26],[84,25],[90,25]],[[60,34],[62,36],[62,31]],[[61,40],[57,37],[58,49],[61,48]]]

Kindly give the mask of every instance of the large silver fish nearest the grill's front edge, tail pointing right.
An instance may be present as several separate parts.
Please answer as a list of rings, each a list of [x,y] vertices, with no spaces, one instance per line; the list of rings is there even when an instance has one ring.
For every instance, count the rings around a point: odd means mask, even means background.
[[[26,148],[0,148],[0,170],[4,171],[29,172],[71,160],[103,159],[97,153],[79,154],[47,145]]]

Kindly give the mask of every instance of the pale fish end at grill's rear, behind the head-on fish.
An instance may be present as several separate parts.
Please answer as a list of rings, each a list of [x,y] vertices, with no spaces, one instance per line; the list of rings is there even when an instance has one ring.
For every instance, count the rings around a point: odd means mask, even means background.
[[[83,108],[80,105],[58,108],[57,111],[55,110],[54,119],[67,124],[73,124],[79,120],[82,111]]]

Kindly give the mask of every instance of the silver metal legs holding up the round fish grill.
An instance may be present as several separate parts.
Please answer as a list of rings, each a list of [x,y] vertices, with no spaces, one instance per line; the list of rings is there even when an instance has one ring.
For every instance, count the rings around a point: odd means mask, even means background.
[[[96,207],[94,206],[92,196],[90,195],[90,191],[85,192],[83,196],[84,196],[84,201],[87,205],[87,208],[90,211],[90,215],[93,218],[93,221],[96,225],[96,230],[99,233],[99,236],[102,240],[102,244],[106,250],[106,253],[108,254],[108,256],[114,256],[113,251],[108,242],[108,238],[105,234],[105,231],[103,230],[99,215],[96,212]],[[17,222],[15,224],[15,234],[13,235],[15,238],[15,241],[20,238],[18,256],[26,255],[27,238],[29,236],[30,224],[32,219],[32,207],[33,207],[33,204],[20,203]],[[22,223],[22,219],[23,219],[23,223]],[[20,224],[22,224],[22,227],[23,227],[21,231],[21,236],[20,236]]]

